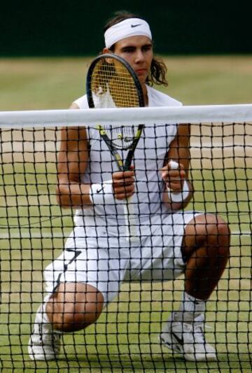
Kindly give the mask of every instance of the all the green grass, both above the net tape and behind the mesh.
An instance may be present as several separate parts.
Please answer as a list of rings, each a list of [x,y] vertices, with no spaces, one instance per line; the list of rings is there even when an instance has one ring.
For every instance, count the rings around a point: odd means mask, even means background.
[[[184,104],[251,102],[250,56],[167,57],[166,61],[170,84],[165,92]],[[69,107],[85,92],[89,62],[0,59],[0,110]],[[64,336],[59,361],[29,360],[27,342],[43,298],[42,272],[62,251],[73,226],[72,212],[61,211],[56,204],[55,157],[47,157],[46,164],[43,153],[35,163],[17,157],[12,164],[6,154],[0,165],[0,371],[251,372],[251,235],[239,234],[251,230],[251,164],[245,169],[239,157],[235,163],[227,157],[224,163],[214,160],[212,170],[206,157],[202,170],[197,152],[192,161],[196,203],[188,209],[221,213],[235,233],[229,267],[207,311],[212,327],[207,339],[216,344],[218,362],[185,362],[160,348],[161,324],[178,307],[183,277],[168,283],[125,283],[95,325]],[[56,237],[50,237],[52,231]]]

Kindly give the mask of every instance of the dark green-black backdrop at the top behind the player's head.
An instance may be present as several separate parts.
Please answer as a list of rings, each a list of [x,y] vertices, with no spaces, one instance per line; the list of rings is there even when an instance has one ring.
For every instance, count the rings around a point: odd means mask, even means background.
[[[0,56],[96,55],[116,10],[151,24],[155,51],[165,55],[252,52],[252,1],[6,1],[0,8]]]

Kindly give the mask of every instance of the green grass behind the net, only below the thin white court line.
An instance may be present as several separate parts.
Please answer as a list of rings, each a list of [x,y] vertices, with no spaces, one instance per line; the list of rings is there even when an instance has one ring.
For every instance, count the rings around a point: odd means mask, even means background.
[[[53,240],[55,256],[61,244],[61,240]],[[251,239],[244,239],[242,247],[237,244],[234,239],[230,267],[208,304],[207,321],[212,329],[207,332],[207,339],[216,344],[218,363],[185,363],[160,349],[158,334],[161,323],[169,311],[178,306],[183,279],[176,283],[142,283],[141,286],[126,283],[120,297],[109,305],[95,325],[85,332],[64,336],[64,353],[57,363],[33,363],[27,356],[27,342],[34,319],[32,312],[36,312],[41,302],[42,263],[44,266],[50,261],[52,251],[49,241],[43,239],[34,240],[32,245],[23,239],[22,252],[20,242],[15,239],[6,241],[6,250],[1,253],[3,268],[7,271],[2,277],[0,356],[3,367],[15,367],[17,371],[19,367],[20,372],[22,366],[26,370],[35,367],[42,370],[47,366],[50,370],[56,367],[71,367],[71,370],[92,367],[94,371],[106,371],[108,368],[108,372],[109,367],[116,370],[120,366],[125,368],[124,371],[128,368],[129,372],[130,369],[141,371],[144,367],[150,370],[176,367],[181,372],[186,368],[204,370],[209,367],[217,372],[218,367],[225,371],[228,363],[230,371],[235,372],[239,366],[243,367],[243,372],[249,371]]]

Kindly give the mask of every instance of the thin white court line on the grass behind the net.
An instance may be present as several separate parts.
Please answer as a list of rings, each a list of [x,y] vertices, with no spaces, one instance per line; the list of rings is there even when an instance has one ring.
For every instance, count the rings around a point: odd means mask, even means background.
[[[235,231],[231,232],[232,236],[251,236],[250,231]],[[0,239],[65,239],[69,236],[69,233],[66,233],[66,235],[63,235],[60,232],[3,232],[0,233]]]

